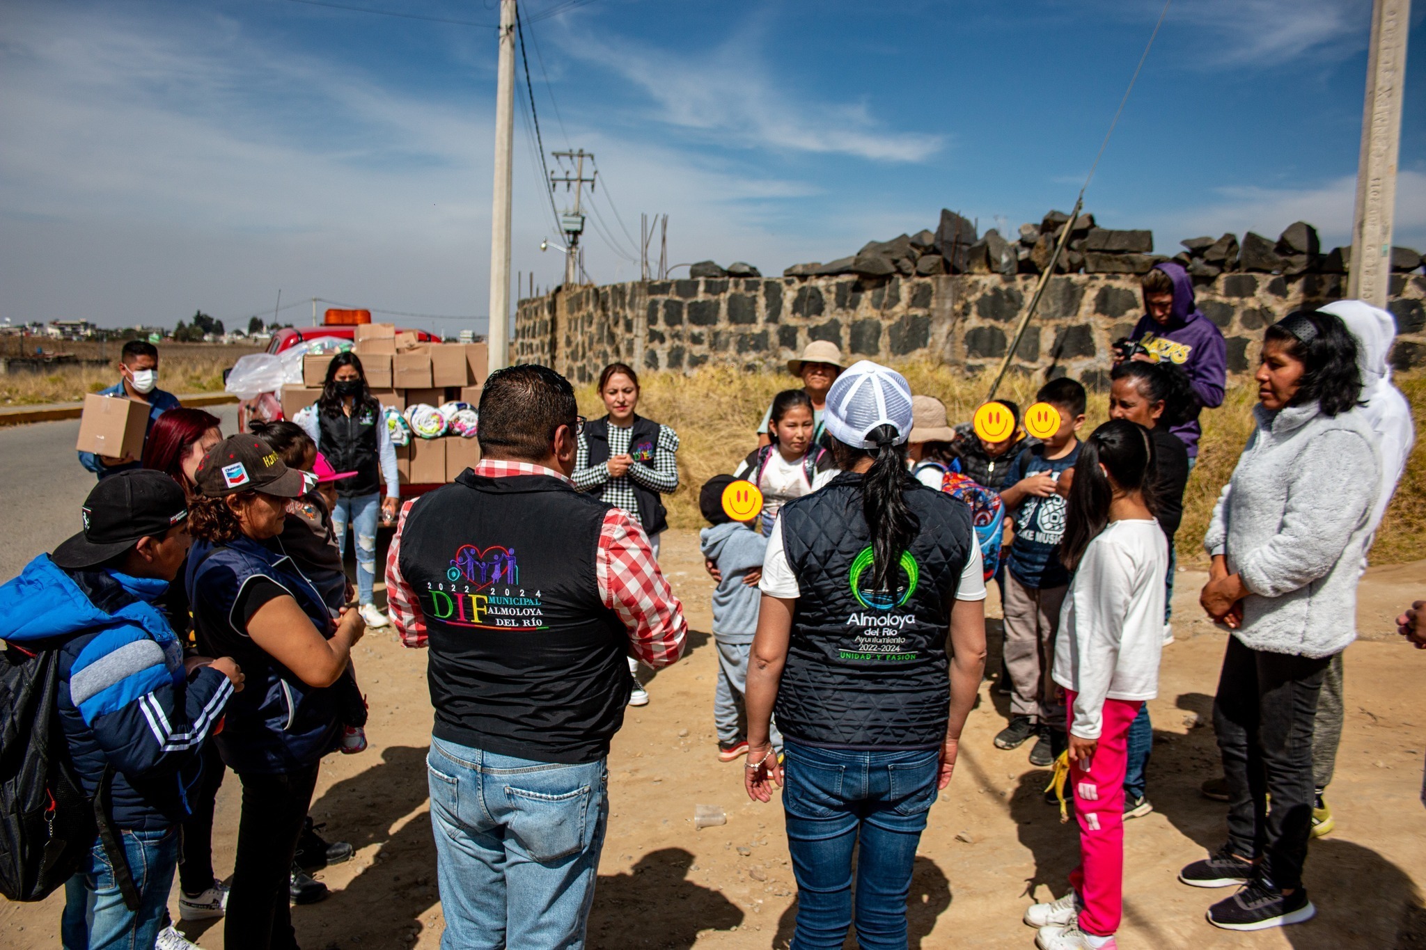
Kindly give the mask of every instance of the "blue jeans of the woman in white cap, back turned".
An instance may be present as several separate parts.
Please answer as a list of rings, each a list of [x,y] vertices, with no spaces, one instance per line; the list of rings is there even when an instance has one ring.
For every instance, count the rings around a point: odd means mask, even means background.
[[[787,849],[797,876],[791,950],[840,950],[853,923],[863,950],[906,950],[915,847],[935,802],[935,749],[847,752],[784,739]]]

